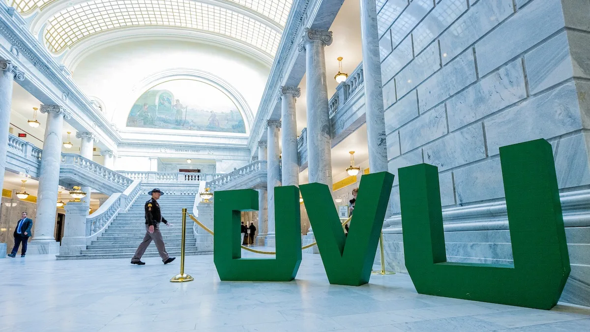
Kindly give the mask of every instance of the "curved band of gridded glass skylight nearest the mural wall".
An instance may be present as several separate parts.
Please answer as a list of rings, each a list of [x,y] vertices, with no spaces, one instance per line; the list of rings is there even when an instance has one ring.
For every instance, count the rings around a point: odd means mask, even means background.
[[[258,0],[239,1],[257,5],[256,8],[267,4]],[[288,1],[290,7],[290,0],[281,1],[284,4]],[[289,8],[286,10],[288,15]],[[45,43],[50,51],[59,53],[93,33],[140,25],[215,32],[252,44],[271,56],[280,41],[280,34],[267,25],[218,6],[192,0],[110,0],[86,2],[58,12],[48,20]]]

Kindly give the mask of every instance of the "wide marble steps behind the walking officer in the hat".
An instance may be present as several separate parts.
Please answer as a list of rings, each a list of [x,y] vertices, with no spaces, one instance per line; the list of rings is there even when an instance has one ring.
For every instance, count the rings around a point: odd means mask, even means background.
[[[126,213],[120,213],[109,225],[104,233],[82,250],[81,255],[58,255],[57,259],[101,259],[101,258],[129,258],[142,242],[145,230],[144,205],[149,196],[142,194],[137,197],[135,203]],[[166,245],[166,252],[170,256],[181,255],[182,239],[182,208],[186,207],[188,213],[192,213],[194,195],[165,194],[160,197],[158,203],[162,209],[162,216],[173,224],[166,227],[160,224],[160,231]],[[209,248],[197,250],[196,239],[193,232],[193,222],[187,217],[185,255],[206,255],[212,253]],[[209,249],[209,250],[208,250]],[[211,248],[212,249],[212,248]],[[150,243],[143,257],[158,257],[155,243]]]

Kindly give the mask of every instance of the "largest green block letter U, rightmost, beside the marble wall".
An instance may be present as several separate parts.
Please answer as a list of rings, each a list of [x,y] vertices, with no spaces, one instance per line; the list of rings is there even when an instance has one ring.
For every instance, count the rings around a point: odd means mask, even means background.
[[[447,262],[437,168],[421,164],[399,169],[406,267],[421,294],[550,309],[570,272],[551,145],[501,147],[500,161],[514,266]]]

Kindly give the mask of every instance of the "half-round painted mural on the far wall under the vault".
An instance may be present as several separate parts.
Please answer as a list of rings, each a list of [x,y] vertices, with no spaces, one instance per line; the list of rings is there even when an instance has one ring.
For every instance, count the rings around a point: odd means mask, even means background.
[[[133,104],[127,126],[246,132],[244,119],[230,97],[195,80],[172,80],[144,92]]]

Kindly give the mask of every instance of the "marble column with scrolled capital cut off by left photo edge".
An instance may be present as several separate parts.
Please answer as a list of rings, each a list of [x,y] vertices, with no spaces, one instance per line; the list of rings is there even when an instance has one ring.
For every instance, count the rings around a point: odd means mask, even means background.
[[[22,81],[25,75],[10,60],[0,59],[0,184],[4,183],[6,151],[8,149],[8,128],[12,105],[12,84]]]

